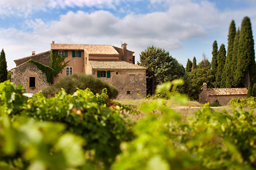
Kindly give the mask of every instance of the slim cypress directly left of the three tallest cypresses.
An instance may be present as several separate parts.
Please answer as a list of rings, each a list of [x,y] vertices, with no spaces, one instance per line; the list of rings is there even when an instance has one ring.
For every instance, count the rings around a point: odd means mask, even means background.
[[[225,65],[225,60],[226,60],[225,45],[221,44],[220,50],[218,52],[218,69],[217,69],[217,73],[216,73],[217,87],[221,87],[221,80],[222,80],[222,74],[223,74],[223,69],[224,69],[224,65]]]

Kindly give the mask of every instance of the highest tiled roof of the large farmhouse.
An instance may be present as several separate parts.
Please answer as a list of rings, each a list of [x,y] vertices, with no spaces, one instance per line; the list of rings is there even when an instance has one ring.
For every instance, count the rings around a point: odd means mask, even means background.
[[[112,45],[51,44],[52,50],[84,50],[88,54],[119,55]]]

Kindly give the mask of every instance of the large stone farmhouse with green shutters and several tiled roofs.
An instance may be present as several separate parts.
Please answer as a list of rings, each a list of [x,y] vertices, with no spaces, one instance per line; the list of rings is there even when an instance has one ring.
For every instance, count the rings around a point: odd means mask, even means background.
[[[67,67],[62,70],[60,78],[72,74],[93,75],[102,81],[116,86],[119,90],[117,99],[139,99],[138,93],[146,96],[146,68],[135,64],[134,52],[127,50],[127,44],[122,47],[112,45],[87,45],[87,44],[56,44],[51,43],[51,50],[65,61]],[[50,51],[14,60],[16,67],[11,69],[12,82],[22,84],[27,92],[36,93],[43,90],[49,83],[47,77],[30,59],[51,65]]]

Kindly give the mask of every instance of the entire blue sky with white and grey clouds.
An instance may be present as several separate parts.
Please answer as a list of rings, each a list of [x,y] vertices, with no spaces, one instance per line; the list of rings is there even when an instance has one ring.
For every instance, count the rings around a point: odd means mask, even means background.
[[[231,20],[249,16],[256,32],[256,0],[1,0],[0,48],[8,69],[50,43],[111,44],[135,52],[147,46],[169,51],[184,66],[187,58],[211,60],[212,43],[227,47]]]

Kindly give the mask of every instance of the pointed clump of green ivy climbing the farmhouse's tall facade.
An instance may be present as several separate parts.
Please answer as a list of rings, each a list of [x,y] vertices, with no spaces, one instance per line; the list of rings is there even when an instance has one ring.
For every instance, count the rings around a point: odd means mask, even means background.
[[[57,51],[51,51],[51,68],[54,69],[54,77],[58,77],[62,73],[63,68],[68,65],[69,61],[65,61],[65,57],[57,54]]]

